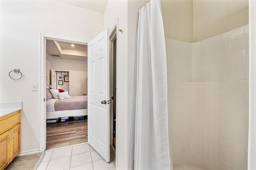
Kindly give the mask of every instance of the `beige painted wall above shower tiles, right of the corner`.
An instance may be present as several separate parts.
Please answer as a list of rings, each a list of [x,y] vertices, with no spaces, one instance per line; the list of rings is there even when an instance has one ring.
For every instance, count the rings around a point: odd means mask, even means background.
[[[193,42],[249,23],[248,0],[194,0]]]

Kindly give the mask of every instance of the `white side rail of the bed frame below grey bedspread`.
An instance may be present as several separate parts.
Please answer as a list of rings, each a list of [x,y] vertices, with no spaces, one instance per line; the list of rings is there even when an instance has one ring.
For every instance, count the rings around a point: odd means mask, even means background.
[[[80,110],[62,110],[46,112],[46,119],[55,119],[58,117],[84,116],[87,115],[87,109]]]

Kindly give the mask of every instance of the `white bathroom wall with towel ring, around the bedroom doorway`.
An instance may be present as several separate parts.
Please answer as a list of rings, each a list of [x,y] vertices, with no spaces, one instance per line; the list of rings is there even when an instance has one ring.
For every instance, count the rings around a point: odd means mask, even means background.
[[[0,4],[0,102],[23,102],[21,151],[38,150],[44,88],[40,33],[89,41],[103,30],[103,14],[54,0],[1,0]],[[14,68],[23,73],[21,80],[9,78]],[[32,92],[31,84],[38,84],[38,91]]]

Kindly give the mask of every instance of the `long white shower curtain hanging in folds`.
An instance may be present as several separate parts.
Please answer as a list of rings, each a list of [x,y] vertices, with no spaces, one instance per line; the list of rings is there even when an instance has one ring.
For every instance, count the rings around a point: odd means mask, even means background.
[[[136,48],[129,169],[173,169],[168,142],[166,45],[159,0],[151,0],[140,10]]]

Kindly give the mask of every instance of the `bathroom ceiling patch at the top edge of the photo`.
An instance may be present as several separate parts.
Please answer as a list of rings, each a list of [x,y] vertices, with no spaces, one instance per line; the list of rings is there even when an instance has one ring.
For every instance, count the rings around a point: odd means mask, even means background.
[[[66,4],[74,5],[87,10],[104,13],[108,0],[56,0]]]

